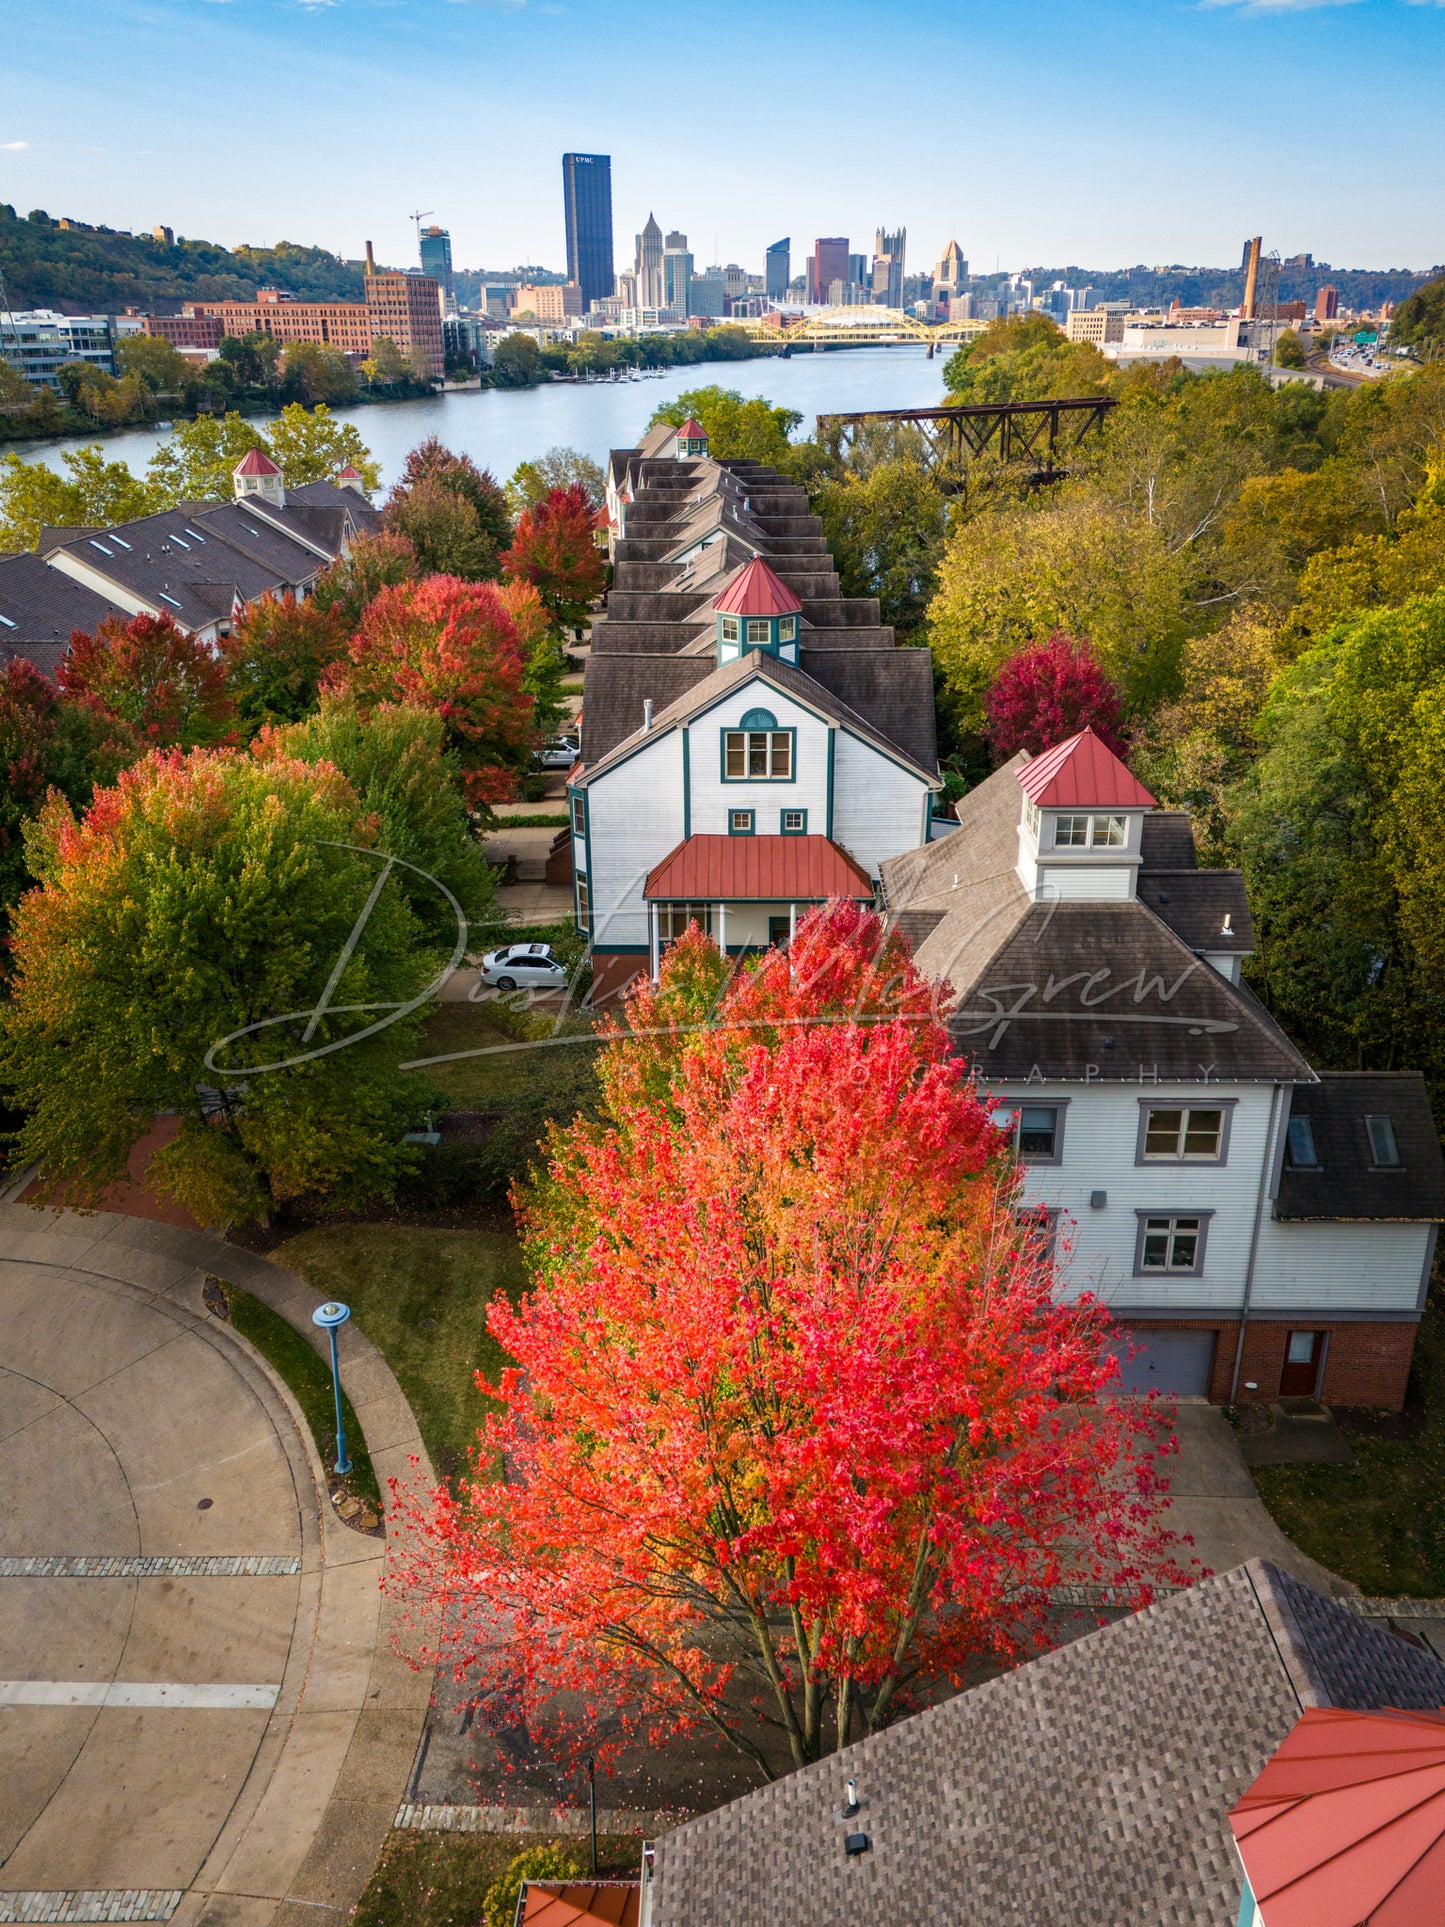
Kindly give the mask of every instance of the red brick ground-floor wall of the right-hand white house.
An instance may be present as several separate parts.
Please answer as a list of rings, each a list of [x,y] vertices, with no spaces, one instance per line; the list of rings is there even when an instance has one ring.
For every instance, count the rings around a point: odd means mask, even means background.
[[[1214,1405],[1229,1403],[1229,1386],[1235,1376],[1235,1349],[1239,1345],[1239,1320],[1216,1318],[1121,1318],[1125,1332],[1218,1332],[1214,1343],[1214,1368],[1210,1372],[1210,1399]],[[1268,1405],[1279,1397],[1279,1372],[1285,1364],[1285,1343],[1291,1332],[1327,1332],[1324,1380],[1320,1397],[1326,1405],[1381,1405],[1397,1412],[1405,1405],[1405,1387],[1410,1378],[1410,1357],[1414,1353],[1414,1333],[1418,1326],[1385,1324],[1347,1324],[1329,1318],[1300,1318],[1299,1324],[1285,1320],[1250,1320],[1245,1328],[1245,1355],[1239,1368],[1239,1403]],[[1247,1391],[1254,1380],[1256,1389]]]

